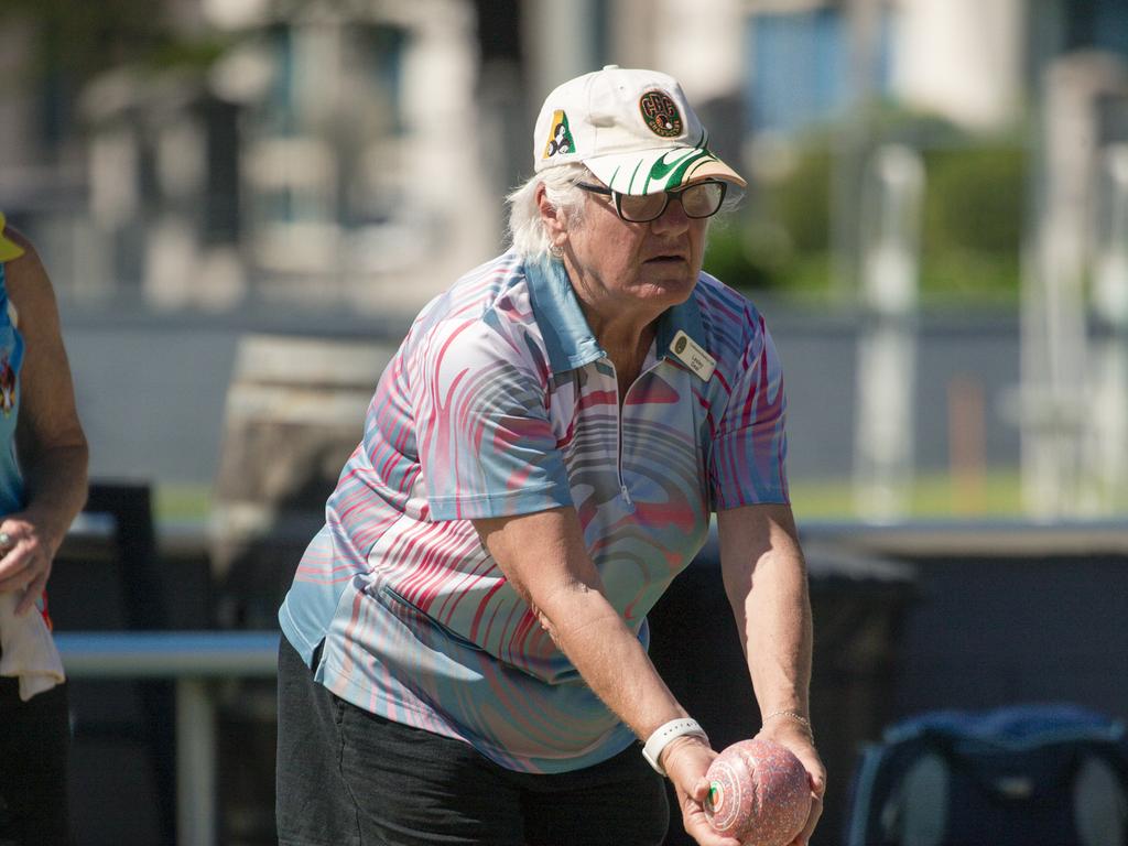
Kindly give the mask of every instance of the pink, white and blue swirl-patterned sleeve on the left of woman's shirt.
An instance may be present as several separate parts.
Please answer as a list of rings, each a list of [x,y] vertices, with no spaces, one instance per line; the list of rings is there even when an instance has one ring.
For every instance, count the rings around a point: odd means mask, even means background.
[[[572,504],[545,407],[547,372],[519,332],[481,319],[441,323],[422,340],[411,371],[433,520]]]

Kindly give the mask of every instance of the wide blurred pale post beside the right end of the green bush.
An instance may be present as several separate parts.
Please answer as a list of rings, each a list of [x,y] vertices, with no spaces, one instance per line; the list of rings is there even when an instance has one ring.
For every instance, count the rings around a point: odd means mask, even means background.
[[[1085,440],[1092,387],[1085,325],[1098,104],[1128,85],[1107,54],[1059,59],[1046,85],[1045,143],[1036,243],[1022,280],[1022,484],[1028,513],[1042,519],[1091,511]]]

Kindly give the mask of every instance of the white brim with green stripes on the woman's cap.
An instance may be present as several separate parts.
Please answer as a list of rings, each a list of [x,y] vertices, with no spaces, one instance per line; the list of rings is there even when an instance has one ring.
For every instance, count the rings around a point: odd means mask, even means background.
[[[747,185],[740,174],[697,147],[597,156],[584,159],[583,164],[607,187],[620,194],[658,194],[702,179],[722,179],[741,188]]]

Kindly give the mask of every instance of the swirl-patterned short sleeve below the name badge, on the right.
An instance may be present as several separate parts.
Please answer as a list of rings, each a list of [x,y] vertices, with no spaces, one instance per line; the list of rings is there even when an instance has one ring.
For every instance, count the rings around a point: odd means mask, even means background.
[[[754,309],[748,317],[749,342],[710,449],[717,511],[788,502],[783,370],[763,317]]]

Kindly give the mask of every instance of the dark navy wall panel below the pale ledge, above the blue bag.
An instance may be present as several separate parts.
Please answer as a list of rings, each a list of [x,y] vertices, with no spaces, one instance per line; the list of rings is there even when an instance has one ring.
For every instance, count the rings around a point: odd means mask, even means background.
[[[898,715],[1063,700],[1128,720],[1128,556],[918,561]]]

